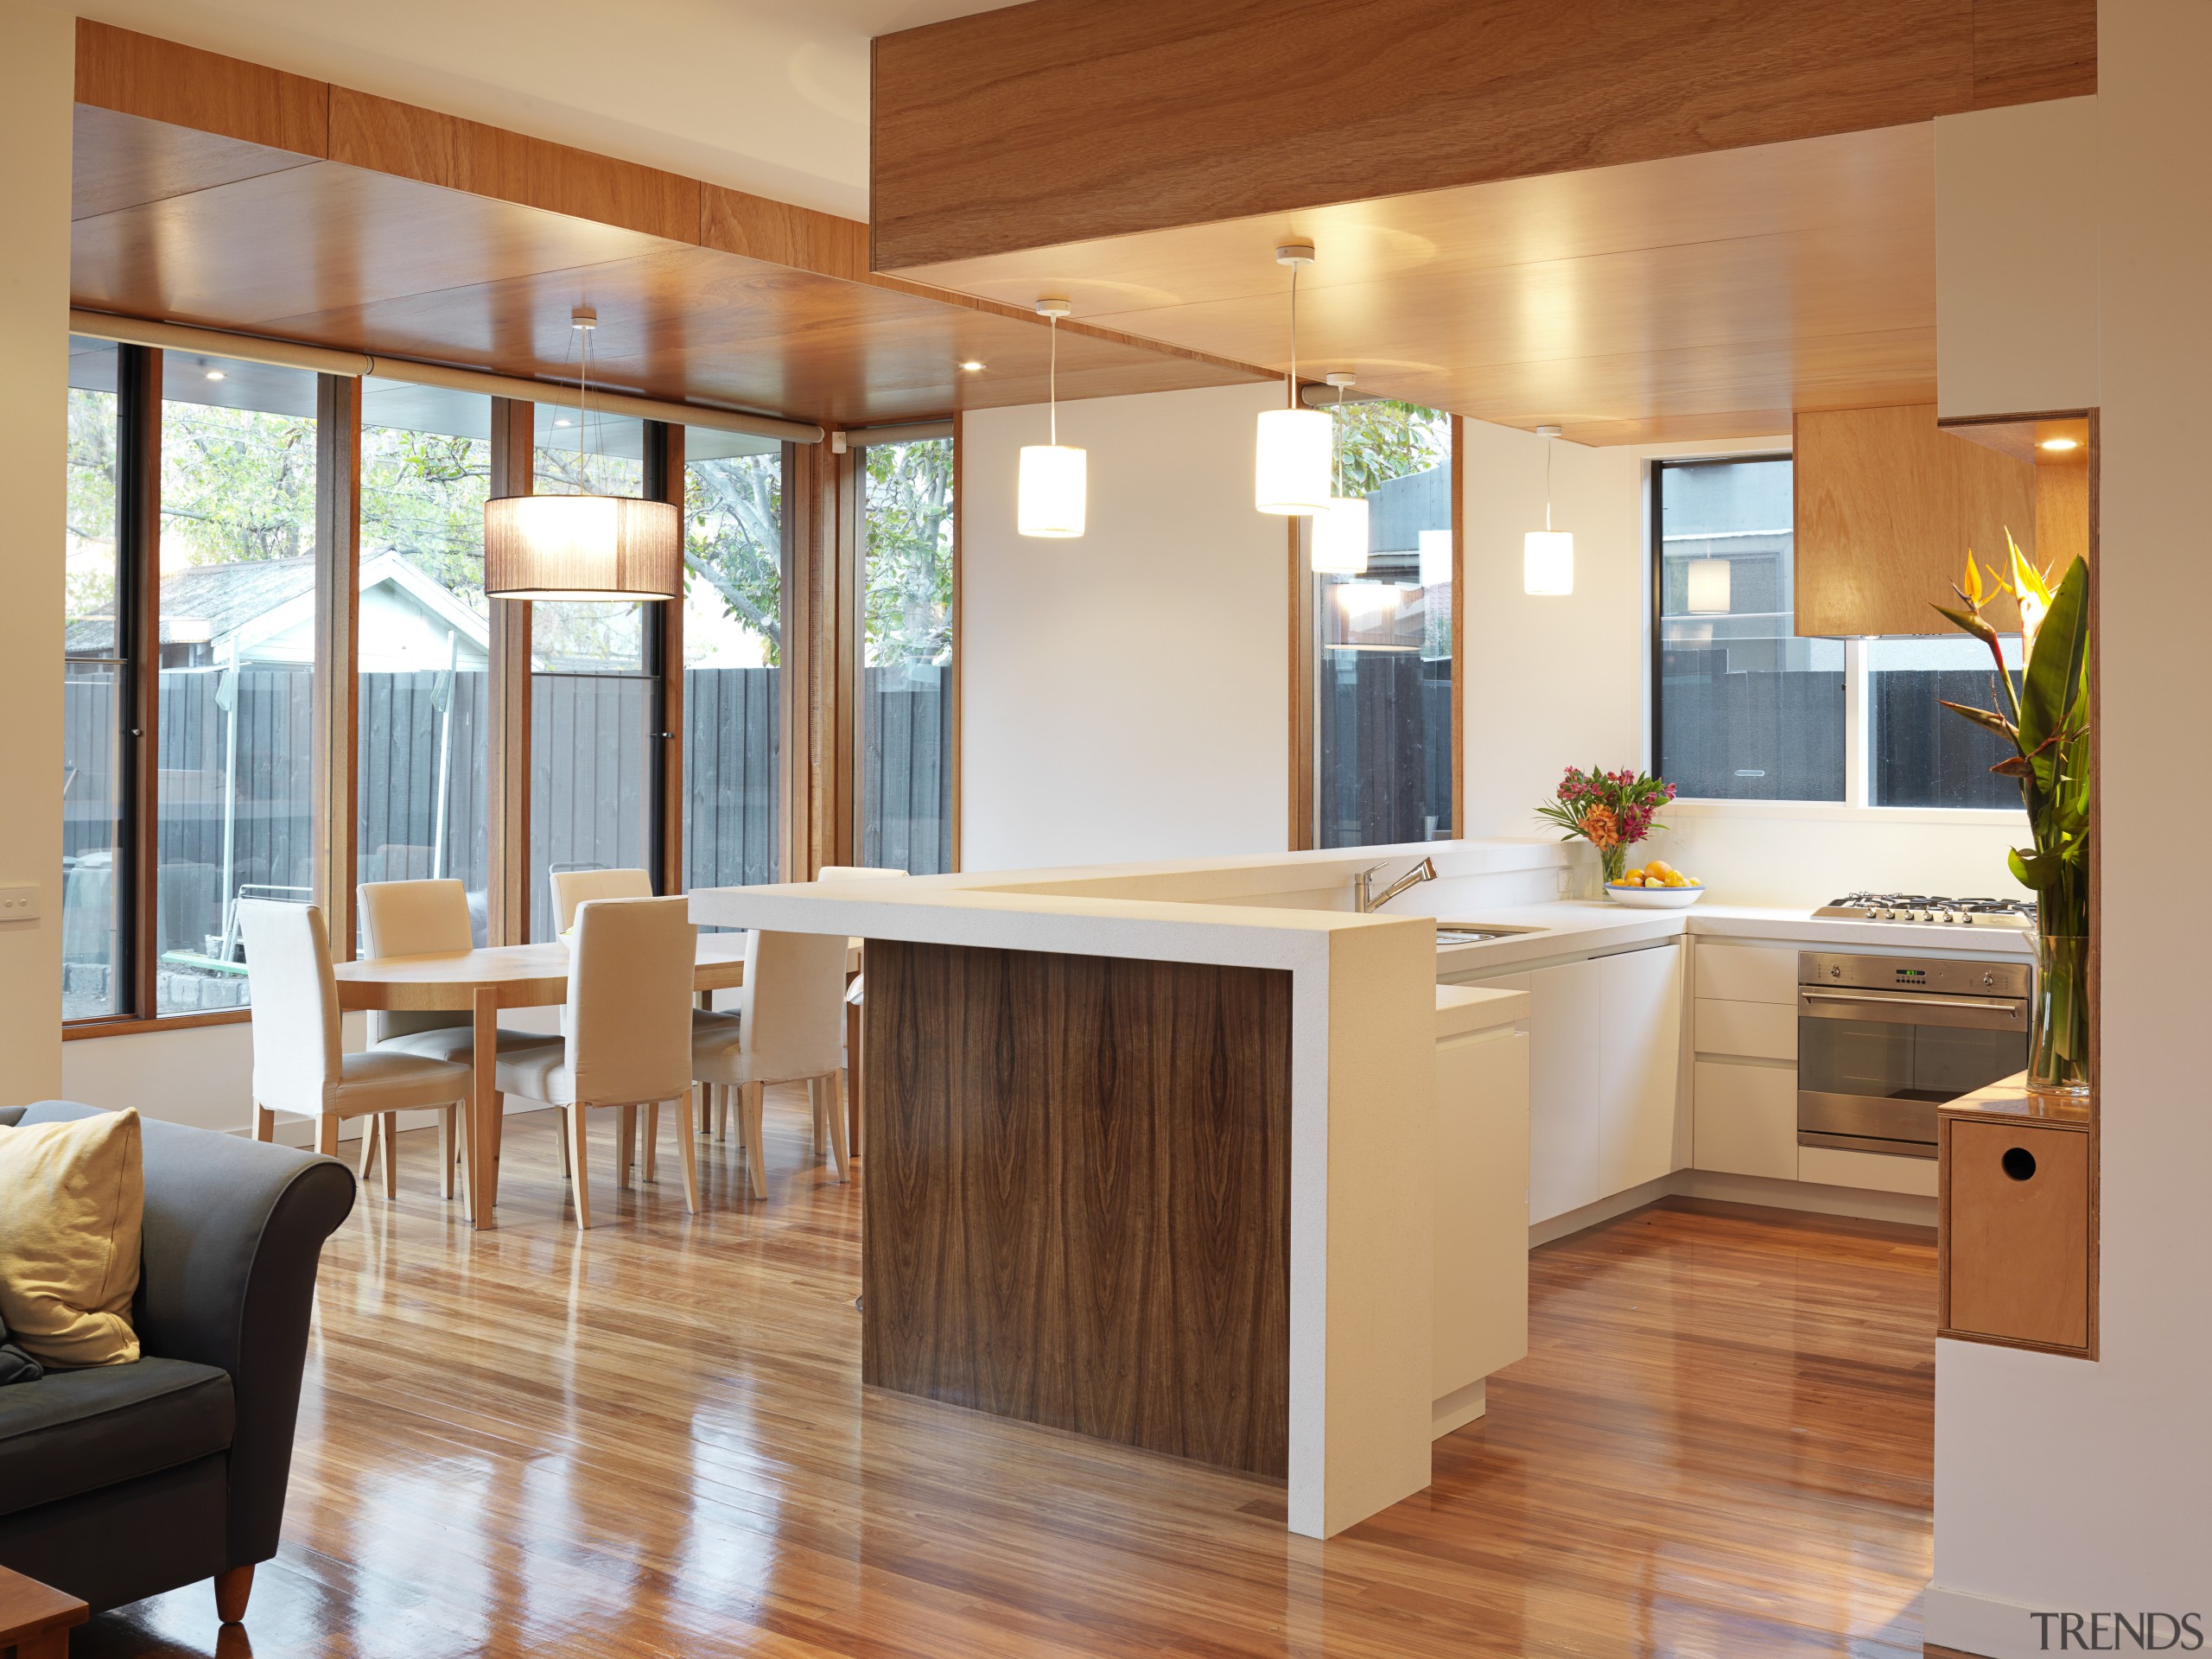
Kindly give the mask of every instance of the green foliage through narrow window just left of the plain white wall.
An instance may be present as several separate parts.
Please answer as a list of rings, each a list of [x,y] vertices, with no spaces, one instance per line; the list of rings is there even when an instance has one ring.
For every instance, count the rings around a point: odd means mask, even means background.
[[[945,661],[953,617],[953,440],[869,445],[863,456],[867,661]]]

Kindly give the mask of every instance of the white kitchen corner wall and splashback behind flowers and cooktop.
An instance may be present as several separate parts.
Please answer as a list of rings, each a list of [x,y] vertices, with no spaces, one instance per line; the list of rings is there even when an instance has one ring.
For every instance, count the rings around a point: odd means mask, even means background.
[[[1544,440],[1467,431],[1467,834],[1526,836],[1568,765],[1650,765],[1650,462],[1774,453],[1790,438],[1584,449],[1557,442],[1551,515],[1575,533],[1575,591],[1522,593],[1522,533],[1544,524]],[[1732,905],[1820,905],[1849,887],[2017,891],[2013,814],[1827,803],[1697,803],[1646,852]]]

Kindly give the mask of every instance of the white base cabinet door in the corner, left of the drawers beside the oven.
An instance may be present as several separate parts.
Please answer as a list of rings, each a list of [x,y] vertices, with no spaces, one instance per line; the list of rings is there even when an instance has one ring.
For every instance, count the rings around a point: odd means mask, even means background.
[[[1597,960],[1597,1197],[1674,1170],[1681,1102],[1681,947]]]

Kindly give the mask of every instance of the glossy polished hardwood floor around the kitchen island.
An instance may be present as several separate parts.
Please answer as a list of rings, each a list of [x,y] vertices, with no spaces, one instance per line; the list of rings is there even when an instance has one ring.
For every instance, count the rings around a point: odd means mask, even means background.
[[[697,1221],[664,1159],[582,1239],[551,1124],[509,1126],[498,1230],[420,1133],[332,1239],[248,1624],[192,1586],[77,1659],[1920,1652],[1927,1230],[1683,1206],[1546,1245],[1491,1416],[1316,1544],[1261,1478],[863,1394],[860,1190],[794,1091],[765,1206],[701,1144]]]

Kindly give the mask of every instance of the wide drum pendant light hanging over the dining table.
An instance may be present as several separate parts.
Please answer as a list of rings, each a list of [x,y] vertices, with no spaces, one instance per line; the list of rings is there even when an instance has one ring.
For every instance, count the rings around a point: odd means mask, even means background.
[[[591,336],[599,314],[577,305],[577,473],[588,480]],[[493,599],[675,599],[684,593],[684,515],[637,495],[498,495],[484,502],[484,593]]]

